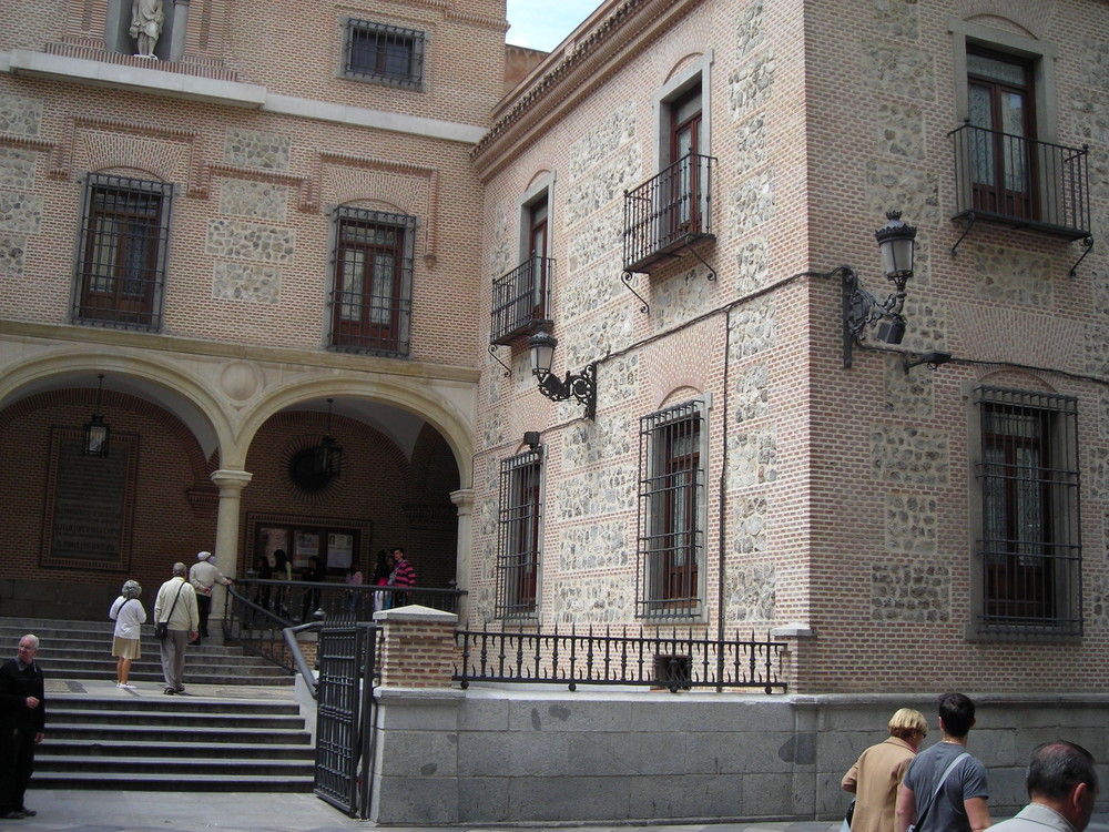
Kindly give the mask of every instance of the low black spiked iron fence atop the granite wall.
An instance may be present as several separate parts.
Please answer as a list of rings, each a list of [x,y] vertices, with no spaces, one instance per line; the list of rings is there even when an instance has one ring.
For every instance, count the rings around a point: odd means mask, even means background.
[[[693,630],[670,636],[618,635],[590,627],[584,633],[522,630],[455,631],[460,664],[454,679],[462,688],[472,681],[566,684],[640,684],[669,689],[761,688],[766,693],[786,689],[782,680],[784,646],[764,640],[716,639]]]

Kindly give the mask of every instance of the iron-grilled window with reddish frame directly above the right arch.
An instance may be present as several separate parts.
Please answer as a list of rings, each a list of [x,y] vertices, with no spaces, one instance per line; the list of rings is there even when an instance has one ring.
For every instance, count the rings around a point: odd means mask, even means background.
[[[339,207],[335,239],[330,348],[408,355],[416,217]]]

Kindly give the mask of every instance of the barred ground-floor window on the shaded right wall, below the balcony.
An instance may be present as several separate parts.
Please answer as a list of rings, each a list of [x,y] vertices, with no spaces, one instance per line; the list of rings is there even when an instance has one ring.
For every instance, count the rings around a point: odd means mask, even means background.
[[[1080,636],[1077,399],[981,387],[975,400],[983,630]]]

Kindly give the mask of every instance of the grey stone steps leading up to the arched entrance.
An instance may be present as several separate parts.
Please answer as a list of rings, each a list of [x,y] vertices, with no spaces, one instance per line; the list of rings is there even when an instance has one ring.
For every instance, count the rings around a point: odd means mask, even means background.
[[[189,648],[185,693],[166,697],[157,642],[144,632],[136,689],[122,690],[111,622],[0,619],[0,659],[27,632],[41,640],[47,679],[32,789],[312,791],[315,749],[284,671],[204,643]]]

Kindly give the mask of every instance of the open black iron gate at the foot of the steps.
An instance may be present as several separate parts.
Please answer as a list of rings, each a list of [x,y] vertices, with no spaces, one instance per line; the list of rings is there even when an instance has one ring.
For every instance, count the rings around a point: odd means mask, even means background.
[[[352,818],[369,816],[374,774],[374,671],[377,627],[319,630],[316,795]]]

